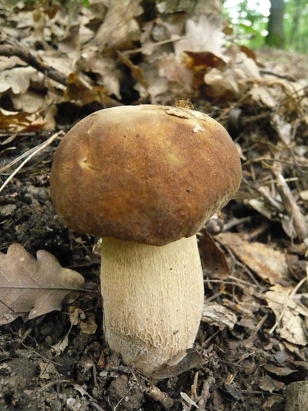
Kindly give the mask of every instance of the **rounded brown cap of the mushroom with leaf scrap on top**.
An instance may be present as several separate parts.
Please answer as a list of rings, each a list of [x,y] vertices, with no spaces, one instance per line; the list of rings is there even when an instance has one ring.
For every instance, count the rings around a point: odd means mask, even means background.
[[[162,246],[196,234],[240,180],[237,148],[217,121],[186,108],[123,106],[66,134],[50,193],[73,230]]]

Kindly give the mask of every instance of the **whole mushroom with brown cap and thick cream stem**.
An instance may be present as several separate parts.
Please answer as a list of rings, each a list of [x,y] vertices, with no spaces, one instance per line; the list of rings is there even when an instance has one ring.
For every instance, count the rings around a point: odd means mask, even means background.
[[[240,180],[226,130],[187,108],[107,108],[62,139],[51,198],[68,227],[102,237],[105,339],[125,364],[149,376],[192,347],[204,299],[196,233]]]

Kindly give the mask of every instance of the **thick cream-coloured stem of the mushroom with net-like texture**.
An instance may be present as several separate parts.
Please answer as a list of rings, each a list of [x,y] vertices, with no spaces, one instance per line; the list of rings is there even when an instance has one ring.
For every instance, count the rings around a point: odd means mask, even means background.
[[[125,364],[151,375],[192,347],[204,295],[195,235],[162,247],[104,237],[101,287],[105,338]]]

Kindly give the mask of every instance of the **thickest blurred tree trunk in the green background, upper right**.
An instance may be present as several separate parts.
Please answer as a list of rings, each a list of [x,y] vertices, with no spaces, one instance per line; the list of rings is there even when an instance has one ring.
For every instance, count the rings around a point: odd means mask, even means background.
[[[284,9],[285,5],[283,0],[271,0],[271,10],[267,26],[268,34],[265,38],[265,43],[268,46],[278,48],[284,48],[285,46],[283,29]]]

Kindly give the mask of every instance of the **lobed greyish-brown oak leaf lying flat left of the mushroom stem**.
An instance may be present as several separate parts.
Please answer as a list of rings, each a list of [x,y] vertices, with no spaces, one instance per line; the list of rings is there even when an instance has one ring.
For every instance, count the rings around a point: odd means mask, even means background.
[[[0,325],[61,310],[84,290],[83,276],[61,267],[48,251],[38,250],[36,257],[19,244],[0,253]]]

